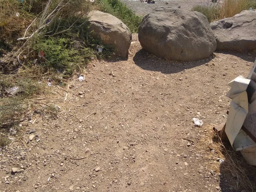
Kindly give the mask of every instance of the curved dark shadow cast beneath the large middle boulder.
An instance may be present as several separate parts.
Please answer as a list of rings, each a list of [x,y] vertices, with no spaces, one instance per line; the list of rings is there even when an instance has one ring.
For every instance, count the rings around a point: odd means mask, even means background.
[[[134,63],[144,70],[159,71],[164,74],[178,73],[185,69],[190,69],[203,64],[207,64],[214,58],[210,55],[208,58],[198,61],[170,61],[167,59],[158,58],[157,56],[140,49],[133,58]]]

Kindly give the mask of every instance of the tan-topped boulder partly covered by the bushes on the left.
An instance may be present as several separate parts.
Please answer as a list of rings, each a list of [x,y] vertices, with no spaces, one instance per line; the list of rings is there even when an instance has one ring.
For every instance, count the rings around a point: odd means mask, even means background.
[[[130,29],[118,18],[100,11],[91,11],[90,29],[98,34],[105,45],[113,45],[116,54],[125,58],[131,45]]]

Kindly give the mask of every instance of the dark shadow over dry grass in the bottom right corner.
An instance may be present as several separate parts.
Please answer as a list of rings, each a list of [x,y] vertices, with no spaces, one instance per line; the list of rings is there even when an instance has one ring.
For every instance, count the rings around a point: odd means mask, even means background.
[[[233,151],[231,145],[224,143],[222,151],[225,160],[220,164],[221,192],[255,192],[256,167],[246,163],[239,151]]]

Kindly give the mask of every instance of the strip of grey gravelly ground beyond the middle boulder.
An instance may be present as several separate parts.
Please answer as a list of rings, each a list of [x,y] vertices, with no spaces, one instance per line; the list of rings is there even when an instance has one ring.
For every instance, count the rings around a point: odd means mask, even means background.
[[[207,5],[211,4],[210,0],[156,0],[156,3],[141,3],[140,0],[122,0],[127,6],[129,6],[137,15],[145,16],[157,7],[168,7],[190,10],[195,5]],[[166,4],[166,2],[168,4]]]

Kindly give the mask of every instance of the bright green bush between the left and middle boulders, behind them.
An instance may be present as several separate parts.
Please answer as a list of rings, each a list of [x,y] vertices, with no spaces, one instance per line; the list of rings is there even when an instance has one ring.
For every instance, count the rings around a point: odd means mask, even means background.
[[[137,33],[142,17],[136,15],[120,0],[98,0],[100,11],[110,13],[122,20],[132,33]]]

